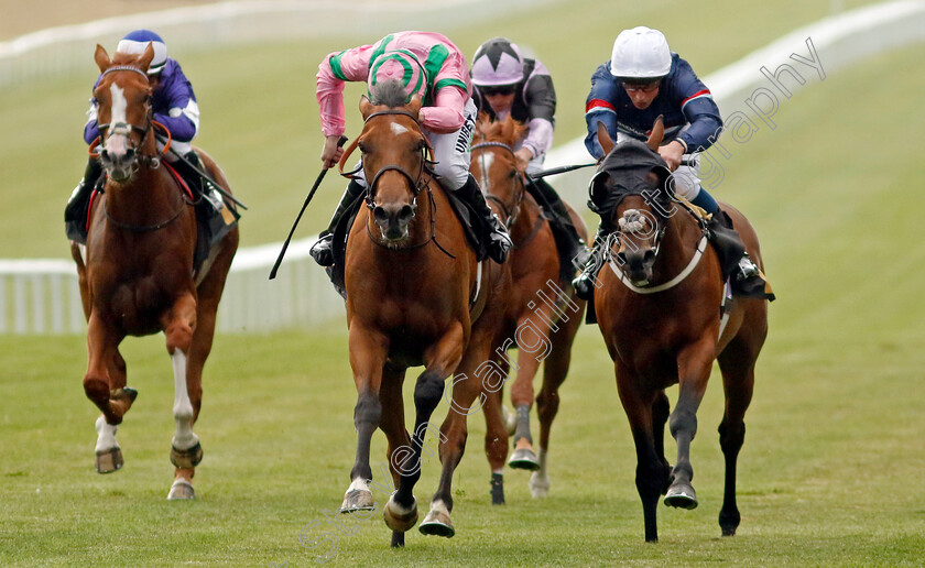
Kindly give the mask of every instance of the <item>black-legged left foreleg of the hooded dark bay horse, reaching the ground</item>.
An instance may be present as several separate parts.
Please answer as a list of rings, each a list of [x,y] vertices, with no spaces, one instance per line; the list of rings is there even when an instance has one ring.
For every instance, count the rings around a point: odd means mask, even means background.
[[[620,402],[630,422],[630,430],[635,444],[635,484],[640,501],[642,501],[645,540],[655,542],[659,539],[656,522],[659,496],[664,492],[670,477],[670,470],[655,452],[655,438],[652,433],[652,403],[657,392],[640,390],[638,378],[632,375],[619,359],[616,370]]]

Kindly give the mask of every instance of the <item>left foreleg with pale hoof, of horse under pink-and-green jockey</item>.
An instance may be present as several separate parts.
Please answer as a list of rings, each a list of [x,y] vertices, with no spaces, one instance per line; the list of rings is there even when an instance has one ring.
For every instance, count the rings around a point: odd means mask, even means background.
[[[372,479],[369,466],[372,434],[382,419],[382,404],[379,392],[382,385],[382,369],[389,350],[388,339],[358,321],[350,326],[350,368],[357,386],[357,405],[353,407],[353,426],[357,429],[357,454],[350,469],[350,487],[340,504],[341,513],[369,511],[376,504],[368,482]]]

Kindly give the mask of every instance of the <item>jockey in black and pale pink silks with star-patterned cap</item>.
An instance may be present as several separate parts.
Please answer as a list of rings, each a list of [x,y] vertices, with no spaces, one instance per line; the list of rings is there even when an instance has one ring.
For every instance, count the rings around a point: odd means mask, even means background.
[[[518,168],[526,174],[542,171],[546,152],[553,146],[556,113],[556,91],[546,66],[524,57],[509,40],[494,37],[476,52],[471,76],[472,99],[479,111],[498,120],[511,116],[527,125],[526,138],[514,146]],[[577,265],[584,264],[585,242],[556,190],[542,177],[530,181],[526,190],[546,212],[565,256]]]

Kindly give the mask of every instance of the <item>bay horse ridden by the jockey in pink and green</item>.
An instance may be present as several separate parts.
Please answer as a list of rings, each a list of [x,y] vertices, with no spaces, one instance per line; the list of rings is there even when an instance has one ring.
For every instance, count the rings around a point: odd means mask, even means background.
[[[383,81],[362,97],[362,132],[339,166],[359,148],[367,179],[366,205],[346,247],[345,288],[349,358],[357,387],[357,452],[340,511],[376,509],[369,488],[370,440],[380,427],[389,441],[389,468],[398,490],[383,507],[392,546],[417,521],[414,485],[427,430],[439,436],[443,473],[418,529],[450,537],[453,471],[466,444],[466,416],[482,385],[474,371],[488,360],[501,313],[504,267],[477,262],[464,227],[428,167],[429,144],[417,121],[421,99],[401,84]],[[350,174],[345,174],[350,175]],[[414,386],[414,427],[405,429],[402,383],[409,367],[424,365]],[[431,416],[456,373],[447,418]]]

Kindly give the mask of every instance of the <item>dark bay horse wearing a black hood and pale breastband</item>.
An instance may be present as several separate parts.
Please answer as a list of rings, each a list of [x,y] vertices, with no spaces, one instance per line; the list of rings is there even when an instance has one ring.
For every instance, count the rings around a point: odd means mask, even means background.
[[[690,441],[697,432],[714,360],[719,361],[726,407],[719,443],[726,459],[726,488],[719,526],[731,536],[739,526],[736,467],[744,440],[744,414],[752,398],[754,365],[768,334],[765,299],[728,298],[707,230],[671,197],[671,177],[656,153],[664,129],[657,121],[648,145],[613,144],[603,128],[598,140],[607,153],[591,181],[608,241],[608,265],[596,283],[600,331],[613,359],[620,402],[636,448],[635,483],[642,501],[645,539],[659,539],[656,506],[697,506],[692,484]],[[722,209],[763,270],[758,237],[746,217]],[[671,414],[665,389],[678,384]],[[665,459],[665,423],[677,443],[672,468]]]

